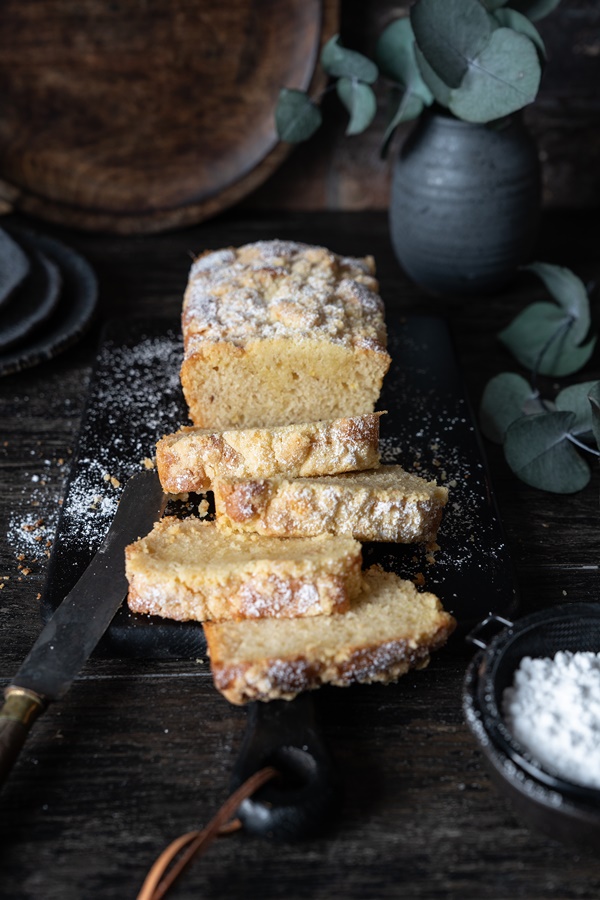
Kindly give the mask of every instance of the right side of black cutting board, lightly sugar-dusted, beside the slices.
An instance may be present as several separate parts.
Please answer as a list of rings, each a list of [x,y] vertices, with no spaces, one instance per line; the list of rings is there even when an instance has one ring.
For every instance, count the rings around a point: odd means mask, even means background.
[[[389,350],[381,460],[445,485],[449,497],[434,548],[369,545],[367,559],[437,593],[459,624],[512,612],[512,566],[446,326],[407,319],[390,329]]]

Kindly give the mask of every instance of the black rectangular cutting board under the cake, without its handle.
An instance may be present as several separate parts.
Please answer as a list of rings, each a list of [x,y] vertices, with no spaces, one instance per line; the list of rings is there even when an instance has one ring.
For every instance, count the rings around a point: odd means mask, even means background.
[[[379,403],[388,410],[382,461],[436,478],[449,487],[450,500],[433,555],[413,545],[366,544],[365,563],[424,580],[460,630],[488,613],[512,614],[513,570],[447,327],[420,316],[388,324],[393,364]],[[181,357],[173,321],[119,321],[105,331],[50,561],[45,618],[97,549],[120,485],[154,456],[158,438],[188,421]],[[124,606],[101,652],[189,657],[202,655],[205,643],[198,624],[136,615]]]

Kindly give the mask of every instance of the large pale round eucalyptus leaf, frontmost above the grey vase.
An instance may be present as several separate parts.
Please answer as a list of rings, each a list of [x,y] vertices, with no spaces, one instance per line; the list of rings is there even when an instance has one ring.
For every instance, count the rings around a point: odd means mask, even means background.
[[[531,103],[542,69],[534,44],[510,28],[494,31],[469,60],[460,87],[452,91],[451,112],[466,122],[490,122]]]

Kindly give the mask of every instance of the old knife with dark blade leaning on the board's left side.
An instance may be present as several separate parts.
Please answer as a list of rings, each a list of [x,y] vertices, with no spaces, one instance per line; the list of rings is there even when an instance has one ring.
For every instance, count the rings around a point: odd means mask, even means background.
[[[147,534],[166,504],[154,470],[133,475],[91,563],[42,629],[4,692],[0,709],[0,784],[49,703],[67,693],[127,593],[125,547]]]

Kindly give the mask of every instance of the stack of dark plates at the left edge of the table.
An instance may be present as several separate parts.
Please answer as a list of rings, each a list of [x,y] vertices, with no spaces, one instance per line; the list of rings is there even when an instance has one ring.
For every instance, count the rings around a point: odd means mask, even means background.
[[[96,277],[54,238],[0,228],[0,375],[51,359],[87,328]]]

